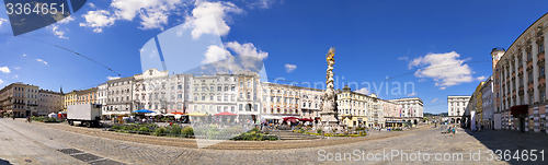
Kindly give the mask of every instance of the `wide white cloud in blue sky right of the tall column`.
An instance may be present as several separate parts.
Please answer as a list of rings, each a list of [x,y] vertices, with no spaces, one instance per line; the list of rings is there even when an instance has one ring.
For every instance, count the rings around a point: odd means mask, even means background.
[[[460,83],[471,82],[472,70],[464,62],[468,59],[458,59],[460,55],[455,51],[446,54],[429,54],[424,57],[419,57],[409,62],[409,68],[425,67],[416,70],[416,78],[431,78],[435,81],[435,85],[439,90],[445,90],[447,86],[458,85]]]

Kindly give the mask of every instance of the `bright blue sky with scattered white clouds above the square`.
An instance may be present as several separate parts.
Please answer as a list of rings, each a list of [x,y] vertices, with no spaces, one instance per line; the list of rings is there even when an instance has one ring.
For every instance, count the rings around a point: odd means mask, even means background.
[[[270,80],[313,84],[324,82],[324,55],[335,47],[336,87],[354,82],[353,90],[376,92],[381,98],[419,96],[424,111],[446,113],[447,95],[469,95],[480,79],[491,74],[491,48],[507,48],[548,12],[548,2],[543,0],[92,3],[62,23],[22,36],[12,35],[5,9],[0,8],[0,86],[25,82],[55,91],[62,85],[70,91],[117,76],[33,39],[72,49],[129,76],[142,70],[140,50],[145,44],[164,31],[181,27],[189,39],[210,38],[215,45],[207,47],[209,56],[193,51],[181,55],[198,63],[209,58],[255,56],[263,59]],[[215,28],[207,23],[208,14]],[[443,63],[454,66],[436,68]],[[429,67],[434,69],[424,70]],[[387,78],[393,79],[384,81]],[[387,83],[388,92],[379,89]],[[414,91],[395,93],[395,83],[413,83]],[[363,90],[366,84],[368,89]]]

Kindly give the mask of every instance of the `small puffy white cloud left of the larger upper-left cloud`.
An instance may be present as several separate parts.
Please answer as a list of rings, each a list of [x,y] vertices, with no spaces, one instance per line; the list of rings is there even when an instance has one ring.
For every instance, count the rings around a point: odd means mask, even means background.
[[[104,27],[114,25],[116,21],[116,17],[112,17],[110,14],[111,12],[106,10],[89,11],[82,15],[85,23],[80,23],[80,26],[91,27],[94,33],[101,33]]]

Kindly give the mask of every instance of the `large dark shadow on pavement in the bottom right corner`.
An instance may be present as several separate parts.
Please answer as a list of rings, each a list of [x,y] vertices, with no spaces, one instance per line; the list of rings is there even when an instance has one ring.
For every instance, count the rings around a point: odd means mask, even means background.
[[[546,133],[510,130],[482,130],[477,132],[465,130],[465,132],[480,141],[494,155],[499,155],[500,153],[501,161],[510,164],[548,164],[548,134]],[[530,154],[533,150],[536,150],[536,161],[532,161],[533,156]],[[516,151],[520,153],[515,154]],[[510,156],[507,154],[505,156],[504,152],[510,154]],[[489,155],[489,151],[481,151],[481,154],[487,156]],[[527,158],[527,161],[524,161],[524,158]]]

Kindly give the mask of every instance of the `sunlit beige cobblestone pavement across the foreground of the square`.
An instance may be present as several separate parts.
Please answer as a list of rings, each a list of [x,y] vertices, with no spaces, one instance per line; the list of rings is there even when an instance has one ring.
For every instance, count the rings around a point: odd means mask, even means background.
[[[0,153],[0,158],[7,160],[13,164],[82,164],[70,156],[56,152],[57,149],[76,149],[93,155],[102,156],[113,161],[126,164],[509,164],[507,162],[488,161],[488,150],[493,150],[492,145],[499,142],[493,138],[515,140],[512,143],[505,143],[501,149],[548,149],[546,134],[537,134],[536,139],[544,142],[518,141],[523,138],[520,133],[505,131],[491,131],[472,133],[458,131],[455,135],[442,134],[438,129],[422,127],[420,129],[401,132],[372,132],[370,137],[363,139],[330,139],[315,140],[316,145],[304,149],[288,148],[289,145],[311,144],[309,141],[278,141],[278,142],[233,142],[228,141],[212,149],[195,149],[195,142],[192,140],[182,140],[175,138],[158,138],[136,134],[125,134],[102,131],[101,129],[89,129],[81,127],[69,127],[66,123],[25,123],[22,120],[12,121],[11,119],[0,119],[0,138],[4,139],[12,135],[12,139],[21,139],[16,143],[11,143]],[[9,131],[12,133],[5,133]],[[19,132],[19,133],[18,133]],[[507,135],[507,138],[501,138]],[[23,154],[5,154],[15,148],[30,145],[24,141],[33,141],[33,145],[39,146],[34,150],[22,151]],[[31,144],[32,144],[31,143]],[[168,143],[175,143],[173,146]],[[180,144],[176,144],[180,143]],[[487,144],[486,144],[487,143]],[[243,146],[246,150],[229,149],[232,146]],[[263,149],[266,145],[270,150]],[[282,145],[273,148],[271,145]],[[30,149],[27,146],[27,149]],[[34,149],[34,148],[33,148]],[[395,156],[391,161],[381,158],[374,161],[376,153],[383,154],[392,150],[400,153],[407,153],[410,156]],[[481,152],[481,160],[471,161],[470,150]],[[25,163],[26,153],[42,152],[43,161],[33,161]],[[364,152],[364,156],[362,155]],[[432,154],[431,160],[424,161],[424,156],[419,161],[416,153]],[[341,153],[341,156],[336,156]],[[344,153],[346,156],[344,157]],[[432,161],[435,154],[457,154],[456,158],[449,157],[448,161]],[[463,153],[461,158],[458,154]],[[415,155],[413,158],[413,154]],[[368,156],[373,155],[373,156]],[[36,156],[38,157],[38,156]],[[367,157],[370,157],[369,160]],[[359,158],[359,160],[357,160]],[[475,158],[475,157],[473,157]],[[39,158],[36,158],[39,160]],[[52,161],[57,160],[58,162]],[[365,160],[365,161],[364,161]],[[402,161],[403,160],[403,161]],[[414,160],[414,161],[413,161]],[[49,162],[52,161],[52,162]],[[60,162],[66,161],[66,162]],[[510,162],[521,164],[524,162]],[[527,162],[534,164],[546,164],[546,162]]]

